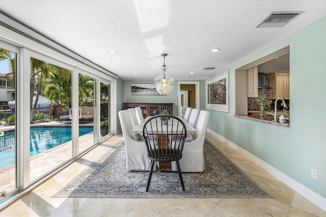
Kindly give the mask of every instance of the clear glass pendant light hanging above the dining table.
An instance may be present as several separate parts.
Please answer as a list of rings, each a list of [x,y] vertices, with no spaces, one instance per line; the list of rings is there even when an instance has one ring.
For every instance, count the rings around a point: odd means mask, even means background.
[[[165,65],[165,57],[168,56],[168,54],[162,53],[161,56],[164,59],[161,67],[163,73],[155,77],[154,85],[159,95],[168,95],[174,89],[174,78],[166,73],[168,67]]]

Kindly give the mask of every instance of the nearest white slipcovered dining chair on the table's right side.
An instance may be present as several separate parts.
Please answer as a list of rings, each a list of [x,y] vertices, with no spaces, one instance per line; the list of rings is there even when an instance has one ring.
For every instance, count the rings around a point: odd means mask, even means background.
[[[192,134],[193,141],[184,142],[182,158],[179,160],[181,172],[203,172],[204,164],[204,141],[208,124],[209,112],[200,111],[196,125],[196,134]],[[177,171],[177,165],[172,162],[172,170]]]

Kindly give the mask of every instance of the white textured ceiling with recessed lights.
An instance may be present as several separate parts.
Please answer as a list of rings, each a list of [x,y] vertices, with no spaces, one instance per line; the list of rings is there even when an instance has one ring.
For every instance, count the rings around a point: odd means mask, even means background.
[[[282,28],[255,28],[277,11],[304,13]],[[123,79],[153,80],[168,53],[169,75],[197,80],[326,14],[326,1],[12,0],[0,12]]]

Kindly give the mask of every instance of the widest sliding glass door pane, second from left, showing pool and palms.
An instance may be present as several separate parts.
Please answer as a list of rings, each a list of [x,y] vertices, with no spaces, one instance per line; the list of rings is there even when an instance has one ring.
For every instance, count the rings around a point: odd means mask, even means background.
[[[72,70],[31,57],[30,180],[72,158],[72,102]]]

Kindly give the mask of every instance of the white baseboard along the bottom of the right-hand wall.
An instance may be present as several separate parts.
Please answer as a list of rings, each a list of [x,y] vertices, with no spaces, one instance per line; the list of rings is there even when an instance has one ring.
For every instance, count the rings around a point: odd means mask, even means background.
[[[295,181],[294,179],[292,179],[291,177],[285,175],[281,171],[279,171],[279,170],[275,169],[274,167],[270,166],[265,161],[259,159],[258,157],[256,157],[252,153],[250,153],[249,151],[244,150],[243,148],[237,146],[233,142],[231,142],[228,139],[224,138],[222,135],[220,135],[220,134],[218,134],[218,133],[216,133],[216,132],[214,132],[214,131],[212,131],[211,129],[208,129],[208,128],[207,128],[207,132],[209,132],[210,134],[212,134],[214,137],[218,138],[219,140],[223,141],[224,143],[226,143],[228,146],[235,149],[239,153],[243,154],[244,156],[246,156],[247,158],[249,158],[250,160],[255,162],[255,164],[257,164],[259,167],[263,168],[268,173],[275,176],[277,179],[282,181],[284,184],[286,184],[287,186],[292,188],[294,191],[301,194],[302,196],[307,198],[309,201],[314,203],[316,206],[318,206],[321,209],[326,211],[326,198],[324,198],[324,197],[318,195],[317,193],[311,191],[311,189],[309,189],[308,187],[304,186],[303,184],[301,184],[301,183]]]

